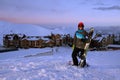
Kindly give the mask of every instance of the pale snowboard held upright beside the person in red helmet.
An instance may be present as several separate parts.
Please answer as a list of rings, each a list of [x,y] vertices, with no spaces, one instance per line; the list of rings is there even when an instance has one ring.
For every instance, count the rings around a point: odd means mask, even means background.
[[[88,49],[89,49],[89,46],[90,46],[90,43],[92,40],[93,32],[94,32],[94,28],[90,28],[89,36],[88,36],[88,39],[87,39],[85,47],[84,47],[85,51],[84,51],[84,54],[82,55],[83,59],[81,59],[79,62],[80,67],[88,66],[88,64],[86,63],[86,56],[87,56],[87,52],[88,52]]]

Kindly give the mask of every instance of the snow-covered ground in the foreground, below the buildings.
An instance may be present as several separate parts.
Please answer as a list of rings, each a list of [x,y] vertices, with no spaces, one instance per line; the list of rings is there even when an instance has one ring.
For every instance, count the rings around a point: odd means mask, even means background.
[[[50,55],[36,55],[49,52]],[[90,67],[68,65],[70,47],[19,49],[0,54],[0,80],[120,80],[120,50],[89,51]]]

